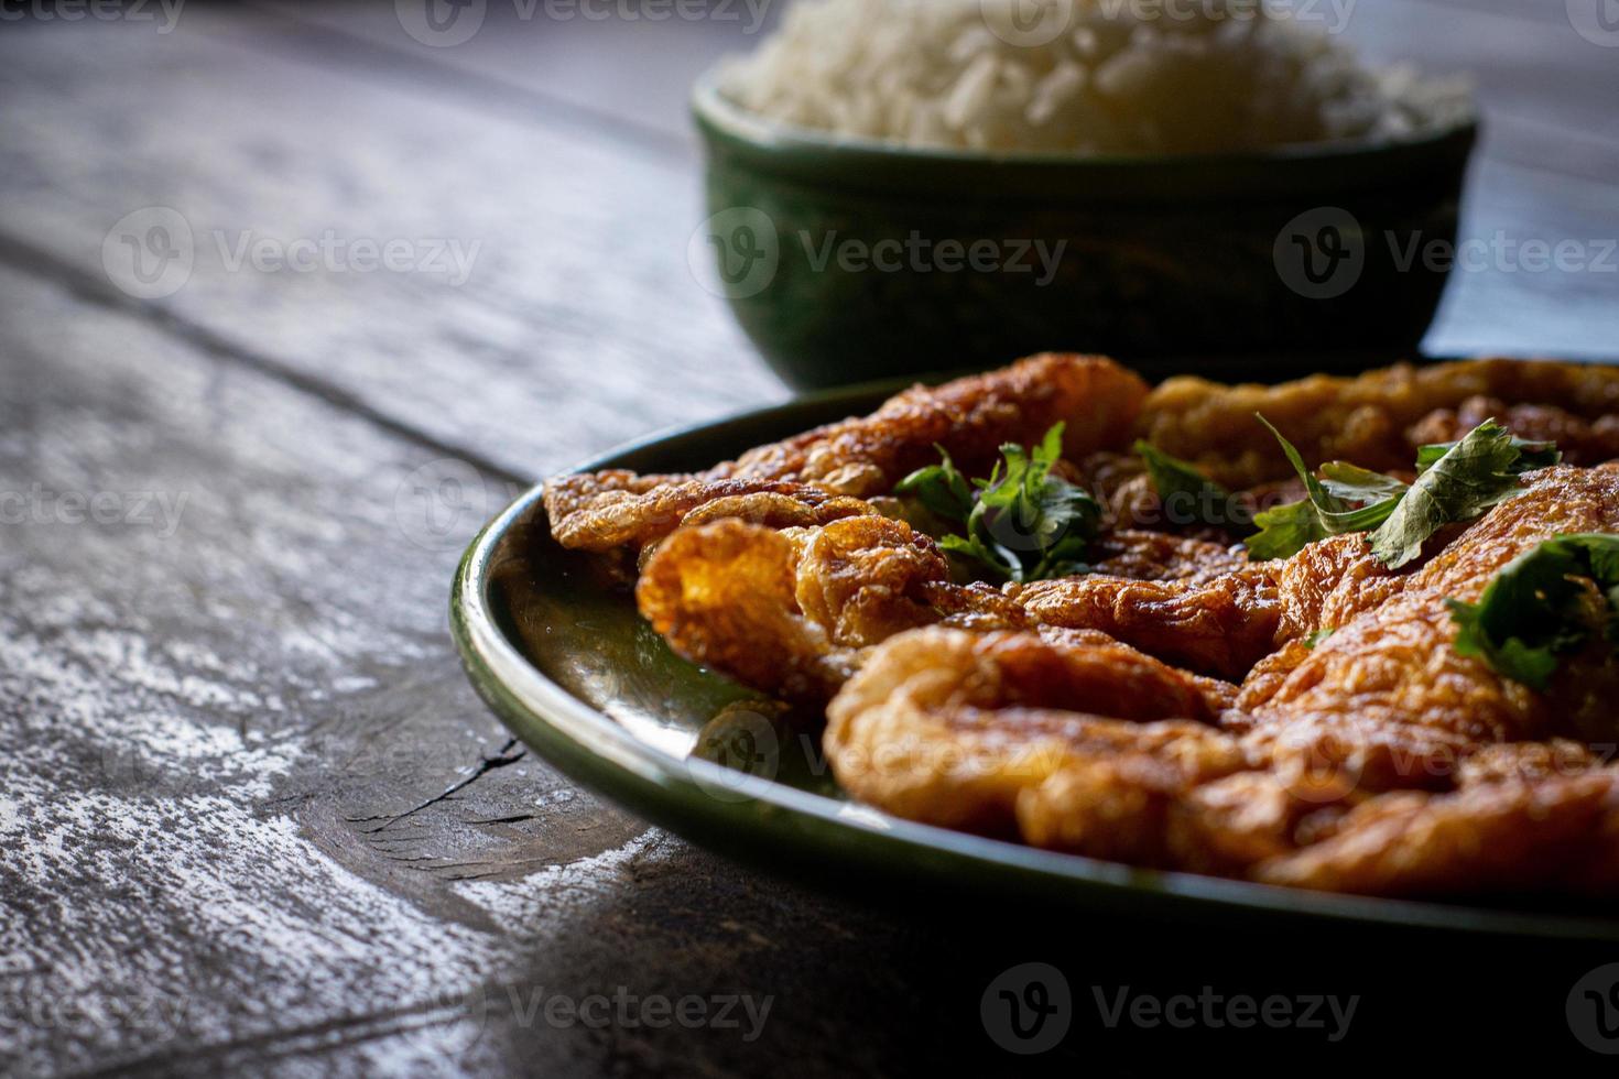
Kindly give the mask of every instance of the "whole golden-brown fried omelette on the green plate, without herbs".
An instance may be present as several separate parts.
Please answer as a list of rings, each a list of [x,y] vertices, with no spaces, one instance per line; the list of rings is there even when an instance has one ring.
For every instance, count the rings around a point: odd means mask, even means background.
[[[1255,413],[1303,459],[1402,492],[1431,489],[1421,446],[1491,419],[1564,463],[1498,476],[1511,490],[1438,521],[1399,566],[1365,531],[1258,561],[1235,529],[1143,511],[1158,479],[1135,438],[1255,505],[1303,497]],[[981,505],[1004,443],[1057,422],[1051,476],[1106,511],[1083,566],[1022,579],[1012,552],[963,568],[967,544],[942,539],[907,476],[942,455]],[[1557,639],[1543,686],[1464,649],[1455,611],[1554,537],[1619,534],[1614,458],[1611,367],[1478,361],[1149,391],[1111,361],[1047,354],[706,472],[563,477],[546,506],[565,547],[640,556],[636,602],[678,654],[824,710],[839,783],[899,817],[1307,888],[1608,895],[1619,634],[1603,589],[1577,581],[1567,616],[1583,629]]]

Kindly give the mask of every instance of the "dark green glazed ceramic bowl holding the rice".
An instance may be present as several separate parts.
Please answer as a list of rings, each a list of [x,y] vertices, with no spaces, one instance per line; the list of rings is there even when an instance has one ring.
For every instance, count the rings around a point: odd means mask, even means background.
[[[1397,356],[1446,280],[1405,256],[1454,243],[1478,134],[1205,157],[918,150],[764,120],[712,76],[693,112],[712,214],[695,243],[800,387],[1043,349],[1148,370],[1200,354],[1211,375],[1230,356]]]

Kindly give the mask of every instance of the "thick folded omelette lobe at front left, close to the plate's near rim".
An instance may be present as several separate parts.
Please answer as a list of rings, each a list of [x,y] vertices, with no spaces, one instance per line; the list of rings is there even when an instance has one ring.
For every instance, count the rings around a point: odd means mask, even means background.
[[[1230,686],[1101,634],[934,626],[873,650],[827,709],[824,744],[865,802],[1013,835],[1022,793],[1077,762],[1138,757],[1182,783],[1250,767],[1237,739],[1209,726],[1229,700]]]

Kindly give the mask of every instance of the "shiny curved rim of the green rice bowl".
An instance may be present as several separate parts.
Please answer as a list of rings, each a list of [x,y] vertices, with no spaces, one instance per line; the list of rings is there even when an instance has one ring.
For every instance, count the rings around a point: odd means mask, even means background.
[[[720,89],[719,61],[696,78],[690,108],[709,138],[724,138],[759,154],[818,154],[832,159],[902,160],[952,167],[991,168],[1106,168],[1106,170],[1222,170],[1232,167],[1287,167],[1298,163],[1352,163],[1391,155],[1472,149],[1481,126],[1478,102],[1472,99],[1467,113],[1412,138],[1400,139],[1331,139],[1323,142],[1282,142],[1251,150],[1214,154],[1078,154],[1073,150],[973,150],[949,146],[907,146],[871,136],[832,134],[818,128],[774,120],[729,99]]]

